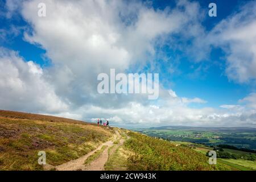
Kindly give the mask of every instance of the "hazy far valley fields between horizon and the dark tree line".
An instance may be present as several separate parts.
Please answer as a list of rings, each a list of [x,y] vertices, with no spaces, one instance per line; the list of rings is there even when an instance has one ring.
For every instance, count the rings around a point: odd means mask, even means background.
[[[244,131],[247,132],[244,132]],[[137,129],[140,133],[151,137],[159,137],[171,141],[201,143],[208,146],[229,144],[238,148],[256,149],[256,129],[243,128],[200,128],[200,127],[159,127]]]

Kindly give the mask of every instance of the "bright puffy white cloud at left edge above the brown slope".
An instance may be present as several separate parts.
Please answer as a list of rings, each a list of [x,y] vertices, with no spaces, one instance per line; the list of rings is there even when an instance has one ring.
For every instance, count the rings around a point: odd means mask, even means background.
[[[43,78],[43,70],[18,53],[0,48],[0,106],[6,110],[38,112],[68,110]]]

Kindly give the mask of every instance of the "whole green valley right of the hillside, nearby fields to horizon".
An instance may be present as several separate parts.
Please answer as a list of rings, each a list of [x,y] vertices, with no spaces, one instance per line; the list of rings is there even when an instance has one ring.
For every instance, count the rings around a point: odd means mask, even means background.
[[[169,140],[175,146],[192,148],[203,155],[216,150],[217,163],[230,170],[256,170],[256,154],[254,151],[241,151],[241,148],[255,150],[256,129],[246,128],[197,128],[197,127],[159,127],[138,129],[140,133],[151,137]],[[237,150],[218,147],[220,144],[237,147]]]

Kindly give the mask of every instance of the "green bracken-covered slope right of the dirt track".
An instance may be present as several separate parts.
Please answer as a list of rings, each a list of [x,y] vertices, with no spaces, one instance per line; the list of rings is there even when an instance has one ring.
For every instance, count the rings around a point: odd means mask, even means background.
[[[228,170],[209,165],[208,158],[189,147],[177,146],[166,140],[130,132],[125,146],[134,154],[128,158],[130,170]]]

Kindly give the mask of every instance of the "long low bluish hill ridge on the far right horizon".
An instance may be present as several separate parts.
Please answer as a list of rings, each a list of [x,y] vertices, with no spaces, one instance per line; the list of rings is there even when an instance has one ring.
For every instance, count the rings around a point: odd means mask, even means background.
[[[220,131],[220,132],[256,132],[255,128],[249,127],[193,127],[193,126],[160,126],[160,127],[151,127],[151,130],[191,130],[191,131]]]

